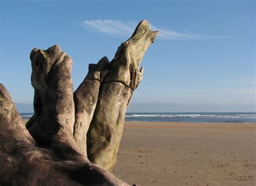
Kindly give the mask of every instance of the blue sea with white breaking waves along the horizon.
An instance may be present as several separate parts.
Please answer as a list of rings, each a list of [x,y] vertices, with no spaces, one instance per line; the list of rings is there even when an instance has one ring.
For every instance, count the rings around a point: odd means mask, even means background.
[[[29,119],[33,113],[21,113],[23,119]],[[256,123],[256,112],[130,112],[126,121],[176,121],[176,122],[243,122]]]

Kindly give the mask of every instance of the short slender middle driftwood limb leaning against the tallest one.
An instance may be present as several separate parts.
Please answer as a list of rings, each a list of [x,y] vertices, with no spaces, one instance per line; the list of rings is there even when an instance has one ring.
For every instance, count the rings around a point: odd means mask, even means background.
[[[73,135],[78,147],[86,156],[86,134],[98,101],[100,82],[105,78],[108,64],[109,60],[106,57],[97,65],[90,64],[87,76],[74,92],[76,121]]]

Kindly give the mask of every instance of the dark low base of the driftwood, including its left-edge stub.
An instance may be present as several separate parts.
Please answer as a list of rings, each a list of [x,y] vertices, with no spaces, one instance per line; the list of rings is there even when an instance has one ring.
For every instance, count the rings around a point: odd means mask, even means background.
[[[86,158],[63,161],[56,151],[34,144],[8,91],[0,83],[1,185],[127,185]]]

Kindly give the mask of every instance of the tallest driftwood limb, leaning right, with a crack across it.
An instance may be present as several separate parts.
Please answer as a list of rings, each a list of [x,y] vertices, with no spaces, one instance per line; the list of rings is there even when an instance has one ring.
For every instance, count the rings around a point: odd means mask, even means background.
[[[158,31],[139,23],[132,37],[119,46],[109,73],[100,88],[98,103],[87,132],[87,156],[91,162],[111,171],[122,138],[126,108],[142,80],[140,62]]]

